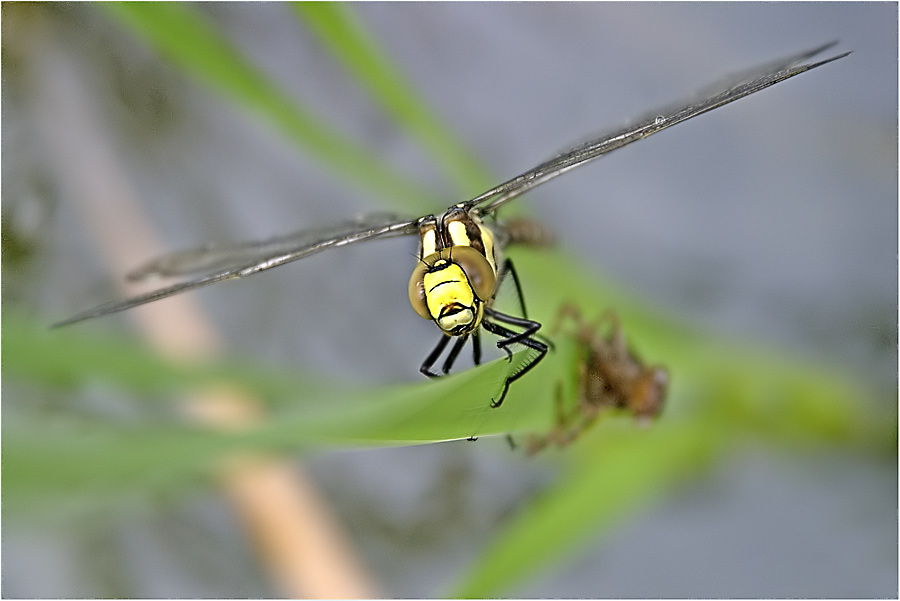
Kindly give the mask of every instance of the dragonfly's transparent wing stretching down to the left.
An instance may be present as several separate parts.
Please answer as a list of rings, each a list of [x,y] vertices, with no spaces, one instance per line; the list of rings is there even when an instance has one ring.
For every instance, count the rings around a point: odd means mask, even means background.
[[[417,222],[418,219],[379,213],[333,226],[301,230],[262,242],[207,246],[166,255],[147,263],[128,277],[132,280],[187,275],[197,277],[146,294],[100,305],[56,323],[53,327],[117,313],[216,282],[242,278],[302,259],[326,248],[375,238],[415,234],[418,232]]]

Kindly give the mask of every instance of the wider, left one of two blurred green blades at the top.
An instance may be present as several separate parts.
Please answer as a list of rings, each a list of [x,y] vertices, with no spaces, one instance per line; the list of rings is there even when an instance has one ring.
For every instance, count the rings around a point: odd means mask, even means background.
[[[213,91],[267,121],[332,172],[406,207],[440,206],[429,190],[347,140],[252,65],[194,6],[125,2],[104,8],[162,56]]]

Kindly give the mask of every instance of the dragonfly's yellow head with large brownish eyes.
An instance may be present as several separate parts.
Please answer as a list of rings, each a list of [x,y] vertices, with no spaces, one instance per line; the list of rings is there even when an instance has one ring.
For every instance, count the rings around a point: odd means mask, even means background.
[[[462,336],[481,324],[496,281],[484,255],[471,246],[451,246],[419,262],[409,279],[409,302],[444,333]]]

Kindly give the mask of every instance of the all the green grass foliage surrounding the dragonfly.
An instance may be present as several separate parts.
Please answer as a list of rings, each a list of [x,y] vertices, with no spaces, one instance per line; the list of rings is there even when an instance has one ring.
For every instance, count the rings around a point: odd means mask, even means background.
[[[392,208],[442,208],[421,186],[393,173],[377,153],[345,140],[280,90],[196,7],[126,3],[102,10],[174,68],[207,86],[210,94],[269,122],[304,155],[389,199]],[[483,171],[457,141],[447,138],[411,87],[398,84],[398,71],[373,48],[345,6],[309,4],[297,13],[347,73],[371,91],[398,126],[423,143],[454,181],[461,187],[483,183]],[[783,448],[839,442],[885,454],[896,450],[896,415],[874,413],[871,393],[849,376],[714,340],[602,281],[562,251],[515,251],[514,256],[520,272],[529,274],[533,317],[547,323],[565,301],[582,308],[616,307],[629,337],[640,341],[642,354],[665,362],[673,383],[668,409],[657,424],[640,429],[630,420],[611,419],[567,449],[561,479],[497,533],[454,594],[502,594],[738,442]],[[502,409],[492,410],[488,404],[509,367],[504,359],[438,381],[359,391],[249,363],[176,365],[133,341],[93,337],[85,330],[47,331],[29,319],[7,315],[4,377],[47,388],[99,380],[142,398],[228,385],[265,399],[268,415],[252,429],[224,433],[175,415],[151,422],[98,419],[84,412],[8,412],[3,431],[5,517],[67,515],[123,503],[148,489],[177,491],[205,481],[239,450],[294,453],[546,430],[553,426],[556,382],[573,368],[564,361],[573,356],[565,352],[571,341],[554,343],[556,352],[529,374],[527,385],[514,385]]]

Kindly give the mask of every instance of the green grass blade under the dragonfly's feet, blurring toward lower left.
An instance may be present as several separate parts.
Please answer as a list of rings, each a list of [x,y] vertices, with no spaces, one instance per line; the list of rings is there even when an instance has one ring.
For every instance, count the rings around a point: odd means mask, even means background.
[[[324,395],[304,411],[279,412],[240,432],[174,420],[8,408],[2,441],[4,515],[71,515],[106,509],[142,492],[180,490],[211,481],[223,460],[238,452],[421,444],[539,427],[536,420],[549,412],[534,403],[490,408],[490,394],[506,373],[506,360],[500,358],[436,382],[358,391],[350,399],[342,393]]]

